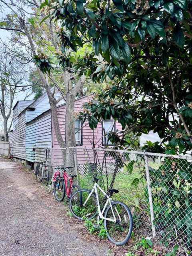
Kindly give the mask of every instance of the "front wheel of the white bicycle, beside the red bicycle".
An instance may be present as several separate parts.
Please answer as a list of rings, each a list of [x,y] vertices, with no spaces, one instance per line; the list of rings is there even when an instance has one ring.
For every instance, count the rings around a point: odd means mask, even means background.
[[[86,206],[83,206],[91,190],[80,189],[72,194],[69,200],[69,209],[72,215],[78,220],[90,220],[98,213],[96,196],[93,193]],[[89,206],[87,206],[89,204]]]

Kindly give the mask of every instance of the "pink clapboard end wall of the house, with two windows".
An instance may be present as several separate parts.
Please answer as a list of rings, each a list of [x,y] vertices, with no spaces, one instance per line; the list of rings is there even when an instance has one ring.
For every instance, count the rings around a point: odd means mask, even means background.
[[[90,96],[89,96],[90,97]],[[82,108],[83,103],[89,100],[88,96],[84,96],[82,98],[78,98],[75,100],[75,111],[78,111]],[[59,126],[62,133],[62,137],[65,138],[65,113],[66,113],[66,105],[63,104],[58,106],[58,120]],[[102,124],[98,123],[96,129],[92,130],[87,124],[82,124],[80,120],[74,120],[75,130],[76,132],[76,147],[77,147],[77,157],[78,157],[78,165],[85,163],[93,163],[95,160],[97,162],[102,162],[103,153],[97,152],[97,156],[94,154],[94,150],[89,150],[90,148],[104,148],[105,143],[108,142],[108,138],[106,134],[111,130],[122,130],[121,124],[118,122],[114,123],[114,120],[103,120]],[[80,130],[80,128],[82,128]],[[113,146],[108,142],[108,146]],[[54,128],[52,125],[52,148],[53,148],[53,165],[57,165],[60,163],[62,159],[61,150],[59,149],[58,141],[56,139],[56,135],[54,132]],[[86,148],[86,149],[85,149]],[[96,159],[97,158],[97,159]],[[112,158],[109,156],[106,157],[108,162],[112,161]]]

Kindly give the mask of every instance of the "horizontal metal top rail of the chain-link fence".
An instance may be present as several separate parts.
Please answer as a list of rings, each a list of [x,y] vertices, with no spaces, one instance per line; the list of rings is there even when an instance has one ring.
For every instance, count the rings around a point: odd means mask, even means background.
[[[146,151],[116,150],[116,149],[108,149],[108,148],[75,148],[75,147],[71,147],[71,149],[111,151],[111,152],[120,152],[120,153],[128,153],[128,154],[142,154],[142,155],[148,155],[148,156],[161,156],[161,157],[170,157],[170,158],[192,160],[191,156],[181,156],[181,155],[178,156],[178,155],[170,155],[170,154],[151,153],[151,152],[146,152]]]

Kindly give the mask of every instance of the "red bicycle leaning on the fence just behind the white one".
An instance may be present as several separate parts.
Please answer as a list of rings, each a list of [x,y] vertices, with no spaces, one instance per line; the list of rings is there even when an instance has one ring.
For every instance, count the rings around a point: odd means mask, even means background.
[[[73,167],[57,167],[52,178],[52,181],[55,181],[54,196],[58,202],[62,202],[64,200],[65,194],[67,194],[67,198],[70,199],[71,195],[76,190],[80,190],[80,186],[73,184],[73,180],[77,175],[71,175],[69,177],[66,173],[66,169],[68,168]],[[59,170],[63,170],[63,175]]]

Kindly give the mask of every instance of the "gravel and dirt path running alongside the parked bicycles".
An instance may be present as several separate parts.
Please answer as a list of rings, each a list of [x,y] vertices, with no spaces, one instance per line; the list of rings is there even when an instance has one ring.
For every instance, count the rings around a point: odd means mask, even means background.
[[[66,215],[34,174],[0,157],[0,256],[106,256],[107,251]]]

